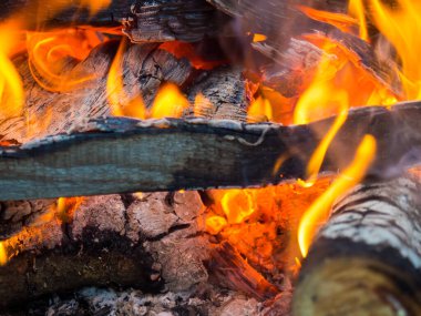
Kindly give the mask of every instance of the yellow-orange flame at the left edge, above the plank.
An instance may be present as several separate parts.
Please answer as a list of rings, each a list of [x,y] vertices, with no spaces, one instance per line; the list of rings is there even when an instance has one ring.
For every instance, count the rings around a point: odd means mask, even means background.
[[[20,23],[8,21],[0,26],[0,113],[2,116],[17,116],[23,111],[23,84],[10,60],[16,47],[19,45]]]

